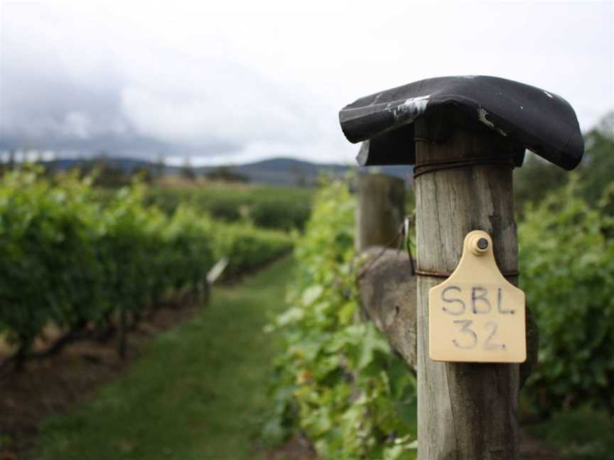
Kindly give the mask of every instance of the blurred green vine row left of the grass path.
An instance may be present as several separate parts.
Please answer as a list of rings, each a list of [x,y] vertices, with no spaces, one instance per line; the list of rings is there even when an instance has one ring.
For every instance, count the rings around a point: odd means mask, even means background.
[[[237,275],[293,244],[280,231],[222,224],[185,205],[167,216],[144,204],[139,183],[102,197],[92,180],[34,168],[0,180],[0,334],[18,361],[47,324],[70,332],[117,312],[136,321],[165,295],[204,295],[222,256],[226,274]]]

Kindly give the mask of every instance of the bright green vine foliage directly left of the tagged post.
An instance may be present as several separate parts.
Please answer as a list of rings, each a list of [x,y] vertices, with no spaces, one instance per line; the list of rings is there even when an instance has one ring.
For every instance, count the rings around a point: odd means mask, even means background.
[[[345,181],[316,194],[289,307],[272,326],[285,351],[265,429],[303,431],[322,459],[414,459],[415,376],[372,322],[357,321],[354,209]]]

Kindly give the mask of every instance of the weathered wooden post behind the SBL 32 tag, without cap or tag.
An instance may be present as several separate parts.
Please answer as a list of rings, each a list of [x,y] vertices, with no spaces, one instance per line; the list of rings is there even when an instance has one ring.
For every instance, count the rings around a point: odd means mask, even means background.
[[[438,160],[501,158],[510,146],[492,131],[451,129],[436,119],[416,120],[416,165]],[[442,131],[448,136],[441,136]],[[433,142],[434,138],[445,141]],[[449,164],[449,163],[448,163]],[[416,177],[417,267],[451,273],[469,231],[492,236],[502,272],[518,269],[512,207],[512,168],[465,165]],[[517,284],[517,278],[510,279]],[[516,420],[517,364],[443,363],[429,358],[429,289],[441,278],[417,284],[418,455],[420,460],[514,460],[519,456]]]

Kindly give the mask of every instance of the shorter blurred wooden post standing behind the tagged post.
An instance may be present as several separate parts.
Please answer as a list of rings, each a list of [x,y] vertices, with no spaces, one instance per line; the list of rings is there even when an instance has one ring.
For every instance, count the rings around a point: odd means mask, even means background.
[[[371,246],[398,247],[394,239],[405,215],[405,182],[382,174],[356,175],[357,252]]]

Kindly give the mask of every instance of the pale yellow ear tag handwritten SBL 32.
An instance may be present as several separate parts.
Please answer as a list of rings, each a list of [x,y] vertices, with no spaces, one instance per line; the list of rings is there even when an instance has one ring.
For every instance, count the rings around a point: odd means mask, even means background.
[[[499,271],[485,231],[465,236],[458,267],[429,290],[429,354],[433,361],[527,359],[524,292]]]

